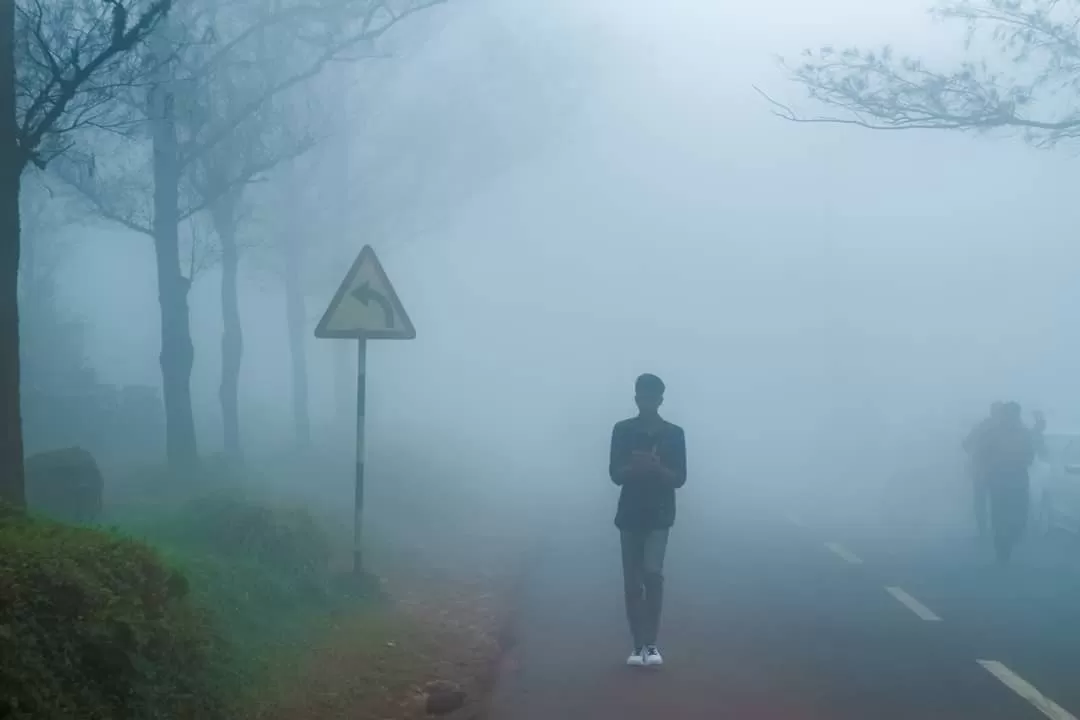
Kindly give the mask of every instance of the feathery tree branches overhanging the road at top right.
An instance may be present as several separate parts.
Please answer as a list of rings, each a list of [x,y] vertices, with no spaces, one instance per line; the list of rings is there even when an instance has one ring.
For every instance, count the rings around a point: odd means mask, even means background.
[[[967,24],[971,57],[959,67],[933,69],[889,46],[825,46],[785,67],[812,100],[837,114],[805,114],[766,97],[793,122],[1012,130],[1038,147],[1080,135],[1080,0],[949,0],[933,13]],[[997,63],[974,56],[984,42]],[[996,64],[1004,68],[993,69]]]

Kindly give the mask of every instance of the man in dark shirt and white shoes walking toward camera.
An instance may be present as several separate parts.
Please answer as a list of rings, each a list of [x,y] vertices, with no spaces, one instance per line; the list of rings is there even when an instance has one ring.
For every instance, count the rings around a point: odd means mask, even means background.
[[[634,640],[627,665],[661,665],[657,649],[663,606],[663,565],[675,524],[675,490],[686,484],[686,436],[660,417],[664,383],[643,375],[635,383],[638,416],[611,432],[611,480],[622,488],[615,524],[622,539],[626,619]]]

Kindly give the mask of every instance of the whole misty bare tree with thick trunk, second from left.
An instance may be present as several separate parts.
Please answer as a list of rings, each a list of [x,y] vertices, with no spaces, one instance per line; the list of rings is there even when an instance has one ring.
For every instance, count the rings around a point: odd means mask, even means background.
[[[213,188],[207,187],[213,192],[192,192],[181,209],[185,189],[191,190],[192,168],[212,154],[229,154],[238,133],[244,133],[273,98],[310,81],[333,60],[369,56],[374,43],[399,23],[444,1],[281,0],[268,8],[260,0],[235,0],[228,3],[235,12],[227,22],[217,23],[220,3],[206,0],[186,6],[183,18],[171,18],[171,31],[159,33],[150,64],[160,74],[148,89],[141,112],[150,127],[152,147],[149,215],[158,260],[165,446],[172,466],[183,470],[198,460],[190,390],[194,363],[188,311],[191,279],[184,275],[179,262],[178,226],[185,213],[228,202],[229,193],[268,169],[257,162],[246,164],[224,181],[224,176],[216,178]],[[252,44],[270,33],[283,40],[273,44],[280,53],[276,67],[281,72],[269,78],[246,77],[249,82],[244,83],[242,96],[228,107],[217,107],[225,114],[199,117],[206,107],[205,98],[212,96],[208,87],[215,79],[219,80],[227,68],[251,65]],[[116,203],[122,199],[100,191],[90,172],[95,165],[91,162],[68,177],[98,204],[103,215],[138,227],[130,215],[118,210]]]

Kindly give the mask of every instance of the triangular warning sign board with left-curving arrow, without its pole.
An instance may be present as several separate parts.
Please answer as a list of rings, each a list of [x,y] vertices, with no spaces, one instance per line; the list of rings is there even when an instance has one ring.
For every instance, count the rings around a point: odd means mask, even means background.
[[[316,338],[411,340],[416,328],[369,245],[356,256],[315,328]]]

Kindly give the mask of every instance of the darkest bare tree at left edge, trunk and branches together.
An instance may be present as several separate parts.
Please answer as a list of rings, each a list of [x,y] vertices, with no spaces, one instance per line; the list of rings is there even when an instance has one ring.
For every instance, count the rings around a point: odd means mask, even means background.
[[[23,506],[19,399],[19,190],[23,172],[108,124],[118,83],[141,72],[132,51],[172,0],[0,0],[0,499]]]

